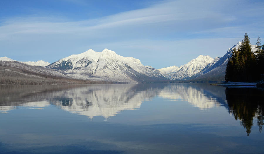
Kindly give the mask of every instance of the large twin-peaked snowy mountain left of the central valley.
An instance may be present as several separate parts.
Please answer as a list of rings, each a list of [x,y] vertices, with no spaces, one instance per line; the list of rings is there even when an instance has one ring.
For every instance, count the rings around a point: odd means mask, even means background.
[[[166,79],[157,69],[141,64],[139,59],[123,57],[108,49],[102,52],[89,49],[46,67],[79,79],[130,83]]]

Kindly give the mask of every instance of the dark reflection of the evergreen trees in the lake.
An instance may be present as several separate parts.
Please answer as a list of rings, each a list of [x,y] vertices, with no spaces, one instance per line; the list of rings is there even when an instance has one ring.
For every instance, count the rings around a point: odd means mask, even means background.
[[[239,119],[249,136],[253,126],[253,118],[257,119],[259,132],[263,126],[264,90],[261,88],[226,88],[226,100],[229,113]]]

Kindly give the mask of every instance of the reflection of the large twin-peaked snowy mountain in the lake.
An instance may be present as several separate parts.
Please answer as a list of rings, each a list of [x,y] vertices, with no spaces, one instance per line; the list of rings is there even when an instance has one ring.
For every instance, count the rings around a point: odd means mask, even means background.
[[[63,110],[89,118],[95,116],[109,118],[123,110],[139,108],[144,100],[155,97],[160,91],[157,87],[151,90],[141,88],[143,86],[137,84],[91,85],[55,92],[49,101]]]

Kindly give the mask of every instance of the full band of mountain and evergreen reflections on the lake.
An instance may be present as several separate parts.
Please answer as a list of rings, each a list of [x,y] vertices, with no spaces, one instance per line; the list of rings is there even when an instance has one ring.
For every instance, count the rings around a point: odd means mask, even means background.
[[[19,106],[43,109],[55,105],[90,119],[102,116],[107,120],[124,110],[138,109],[154,97],[184,100],[201,111],[221,106],[240,120],[247,135],[253,118],[262,133],[262,89],[209,84],[1,85],[0,113],[8,114]]]

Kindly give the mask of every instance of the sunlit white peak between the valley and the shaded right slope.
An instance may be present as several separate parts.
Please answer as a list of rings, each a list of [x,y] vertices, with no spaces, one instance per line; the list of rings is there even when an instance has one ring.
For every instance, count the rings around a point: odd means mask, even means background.
[[[173,73],[169,79],[179,80],[189,78],[204,69],[204,67],[207,66],[212,60],[213,58],[208,55],[199,55],[197,58],[192,59],[187,64],[184,64],[182,68],[179,71]]]

